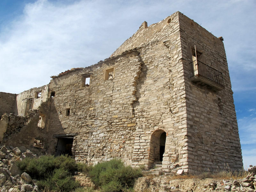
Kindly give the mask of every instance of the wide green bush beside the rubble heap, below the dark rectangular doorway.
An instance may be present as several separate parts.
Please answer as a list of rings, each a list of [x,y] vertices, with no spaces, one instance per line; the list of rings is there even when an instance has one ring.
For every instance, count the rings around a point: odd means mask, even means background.
[[[69,156],[41,156],[38,159],[25,158],[17,166],[38,180],[38,186],[48,191],[69,192],[80,185],[72,178],[77,171],[77,164]]]

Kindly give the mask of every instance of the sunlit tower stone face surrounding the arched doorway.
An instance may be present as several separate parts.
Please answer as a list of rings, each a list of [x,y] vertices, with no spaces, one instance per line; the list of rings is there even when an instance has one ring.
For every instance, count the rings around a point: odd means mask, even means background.
[[[186,105],[179,13],[140,29],[112,55],[136,48],[143,61],[134,102],[137,122],[133,150],[133,164],[154,163],[151,148],[155,132],[166,132],[163,169],[170,171],[182,167],[186,161]],[[141,44],[144,43],[143,46]],[[152,138],[151,138],[152,137]],[[183,154],[182,154],[183,153]]]

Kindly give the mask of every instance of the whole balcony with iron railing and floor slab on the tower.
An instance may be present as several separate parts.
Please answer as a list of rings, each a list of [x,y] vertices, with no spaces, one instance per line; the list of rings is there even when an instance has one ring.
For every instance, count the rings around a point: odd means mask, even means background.
[[[192,68],[192,76],[190,77],[193,82],[202,82],[211,86],[215,91],[224,89],[223,75],[220,71],[195,60],[189,63]]]

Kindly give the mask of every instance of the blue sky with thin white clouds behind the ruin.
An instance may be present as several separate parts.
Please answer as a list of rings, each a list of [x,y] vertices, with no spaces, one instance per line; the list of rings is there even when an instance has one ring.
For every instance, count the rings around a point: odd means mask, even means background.
[[[180,11],[224,38],[244,167],[256,165],[255,10],[255,0],[0,0],[0,91],[20,93],[95,64],[144,20]]]

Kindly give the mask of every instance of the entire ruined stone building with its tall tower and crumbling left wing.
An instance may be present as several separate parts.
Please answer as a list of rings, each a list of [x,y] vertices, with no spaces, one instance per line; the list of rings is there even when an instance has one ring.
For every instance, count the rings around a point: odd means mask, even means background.
[[[180,12],[104,61],[0,92],[1,145],[184,172],[243,166],[223,38]]]

